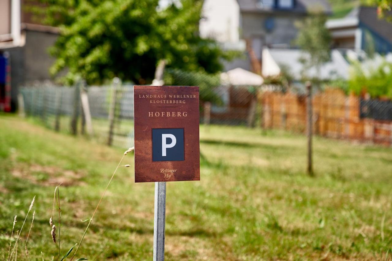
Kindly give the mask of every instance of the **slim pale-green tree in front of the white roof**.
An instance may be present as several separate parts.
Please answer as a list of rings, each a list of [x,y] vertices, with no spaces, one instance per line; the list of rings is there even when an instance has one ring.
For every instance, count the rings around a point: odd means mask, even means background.
[[[299,33],[294,41],[301,48],[305,56],[301,58],[303,63],[303,80],[313,80],[319,84],[318,77],[310,77],[307,71],[316,69],[316,75],[320,75],[321,65],[330,60],[331,36],[325,27],[327,16],[322,12],[313,12],[298,24]],[[310,79],[312,78],[312,79]]]

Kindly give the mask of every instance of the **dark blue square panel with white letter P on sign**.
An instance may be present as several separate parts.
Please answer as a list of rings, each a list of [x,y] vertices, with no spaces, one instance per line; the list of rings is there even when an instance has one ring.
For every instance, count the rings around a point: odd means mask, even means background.
[[[152,161],[185,160],[184,129],[152,129]]]

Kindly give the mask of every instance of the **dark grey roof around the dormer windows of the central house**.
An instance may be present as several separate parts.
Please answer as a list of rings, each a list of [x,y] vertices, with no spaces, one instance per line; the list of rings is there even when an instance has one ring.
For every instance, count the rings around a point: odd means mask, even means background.
[[[241,12],[272,13],[276,11],[291,11],[297,13],[307,13],[312,9],[321,9],[325,13],[332,13],[328,0],[294,0],[293,9],[263,9],[258,7],[258,0],[237,0]]]

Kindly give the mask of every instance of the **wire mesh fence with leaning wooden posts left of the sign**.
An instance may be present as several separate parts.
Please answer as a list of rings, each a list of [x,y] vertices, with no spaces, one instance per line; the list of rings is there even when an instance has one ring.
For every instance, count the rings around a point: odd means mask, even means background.
[[[21,94],[25,114],[40,118],[51,129],[89,134],[110,145],[133,145],[133,85],[25,87]],[[91,115],[90,123],[85,113]]]

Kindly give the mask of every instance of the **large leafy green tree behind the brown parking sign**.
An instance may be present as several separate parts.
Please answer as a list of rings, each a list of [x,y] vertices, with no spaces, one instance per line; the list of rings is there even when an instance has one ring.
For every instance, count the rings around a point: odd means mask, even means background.
[[[50,52],[53,75],[99,84],[113,77],[149,83],[159,60],[184,71],[216,73],[231,56],[198,35],[202,0],[182,0],[165,9],[158,0],[39,0],[31,7],[60,36]]]

